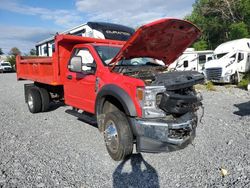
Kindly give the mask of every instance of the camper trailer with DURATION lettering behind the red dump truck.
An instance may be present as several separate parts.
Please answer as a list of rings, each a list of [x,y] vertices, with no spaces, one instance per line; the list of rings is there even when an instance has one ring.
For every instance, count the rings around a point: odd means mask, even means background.
[[[119,24],[88,22],[60,34],[127,41],[134,32],[134,29]],[[54,49],[54,36],[36,44],[37,56],[52,56]]]

